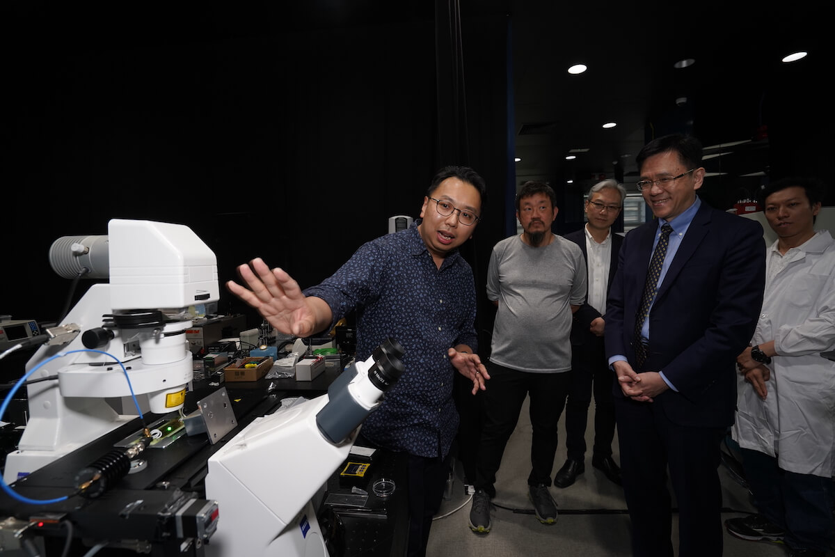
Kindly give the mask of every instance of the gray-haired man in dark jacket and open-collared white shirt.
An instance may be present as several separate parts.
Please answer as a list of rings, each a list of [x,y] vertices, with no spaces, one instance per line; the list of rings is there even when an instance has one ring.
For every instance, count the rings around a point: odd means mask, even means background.
[[[554,485],[567,488],[585,471],[585,428],[592,392],[595,395],[595,444],[591,465],[605,477],[621,484],[620,467],[612,458],[615,438],[615,402],[612,383],[615,373],[606,362],[603,332],[606,296],[618,268],[618,253],[623,236],[615,234],[615,224],[626,198],[617,180],[603,180],[591,186],[585,201],[588,223],[565,235],[583,251],[588,271],[588,295],[574,312],[571,327],[571,389],[565,403],[565,448],[568,458],[554,476]]]

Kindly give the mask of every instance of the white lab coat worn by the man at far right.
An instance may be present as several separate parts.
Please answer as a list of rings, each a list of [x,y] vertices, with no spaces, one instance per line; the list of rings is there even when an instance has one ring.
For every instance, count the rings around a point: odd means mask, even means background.
[[[768,366],[766,400],[739,377],[732,434],[741,447],[777,457],[784,470],[828,478],[835,473],[835,362],[820,353],[835,347],[835,241],[821,230],[785,257],[787,266],[766,284],[751,341],[774,340],[780,356]]]

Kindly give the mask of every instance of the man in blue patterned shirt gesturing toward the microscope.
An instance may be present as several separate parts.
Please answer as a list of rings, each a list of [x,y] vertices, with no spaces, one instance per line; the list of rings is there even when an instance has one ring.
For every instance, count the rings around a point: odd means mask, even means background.
[[[367,242],[320,285],[301,291],[261,259],[238,268],[249,289],[227,284],[285,334],[329,331],[356,309],[358,359],[371,357],[388,337],[402,345],[406,371],[363,423],[362,436],[409,455],[409,555],[426,553],[443,498],[458,431],[455,370],[473,382],[473,394],[489,379],[475,353],[473,271],[458,253],[478,224],[485,191],[474,170],[446,167],[433,178],[411,228]]]

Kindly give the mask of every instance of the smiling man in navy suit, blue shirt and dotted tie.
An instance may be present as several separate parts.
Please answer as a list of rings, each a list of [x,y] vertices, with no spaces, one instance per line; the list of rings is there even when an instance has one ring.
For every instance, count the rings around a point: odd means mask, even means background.
[[[734,362],[762,306],[762,226],[696,196],[705,179],[697,139],[654,139],[637,163],[657,218],[625,236],[605,329],[632,553],[673,555],[669,469],[680,557],[715,557],[719,447],[734,420]]]

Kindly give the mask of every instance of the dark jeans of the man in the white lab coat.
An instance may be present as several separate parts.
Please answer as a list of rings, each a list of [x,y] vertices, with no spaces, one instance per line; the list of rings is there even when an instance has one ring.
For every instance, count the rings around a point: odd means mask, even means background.
[[[786,530],[792,549],[827,552],[832,543],[832,479],[787,472],[777,458],[742,448],[742,466],[757,510]]]

